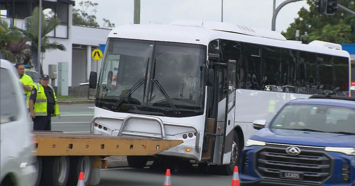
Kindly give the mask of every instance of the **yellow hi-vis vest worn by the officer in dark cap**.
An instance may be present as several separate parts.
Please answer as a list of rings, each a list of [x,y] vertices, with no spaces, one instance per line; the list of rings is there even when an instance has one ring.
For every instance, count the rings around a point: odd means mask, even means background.
[[[41,84],[34,84],[35,89],[37,89],[36,101],[34,102],[34,115],[35,116],[47,116],[47,96],[44,93],[44,88]],[[52,89],[53,90],[53,89]],[[59,115],[59,105],[57,96],[53,90],[54,96],[54,116]]]

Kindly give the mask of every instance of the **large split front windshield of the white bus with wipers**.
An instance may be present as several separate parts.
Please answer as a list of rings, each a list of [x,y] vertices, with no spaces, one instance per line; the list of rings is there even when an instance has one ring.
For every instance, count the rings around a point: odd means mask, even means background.
[[[109,38],[96,106],[115,112],[203,114],[206,46]]]

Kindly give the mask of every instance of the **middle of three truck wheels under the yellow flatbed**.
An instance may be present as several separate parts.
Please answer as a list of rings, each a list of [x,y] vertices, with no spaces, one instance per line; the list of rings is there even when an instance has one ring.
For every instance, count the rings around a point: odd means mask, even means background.
[[[69,177],[69,157],[52,156],[42,159],[41,184],[45,186],[66,186]]]

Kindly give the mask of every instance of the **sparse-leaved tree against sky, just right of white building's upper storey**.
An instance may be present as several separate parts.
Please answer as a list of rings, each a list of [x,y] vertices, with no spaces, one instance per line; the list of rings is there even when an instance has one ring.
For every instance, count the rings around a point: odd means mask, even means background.
[[[92,3],[91,1],[81,1],[79,2],[81,9],[73,8],[73,25],[85,25],[92,27],[99,27],[99,24],[96,22],[96,7],[98,3]],[[93,7],[93,15],[89,15],[88,9]]]

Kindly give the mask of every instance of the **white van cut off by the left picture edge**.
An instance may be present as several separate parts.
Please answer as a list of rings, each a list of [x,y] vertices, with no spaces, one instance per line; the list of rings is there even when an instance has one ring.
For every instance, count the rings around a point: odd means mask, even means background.
[[[28,110],[13,65],[0,60],[0,186],[32,185],[35,174]]]

